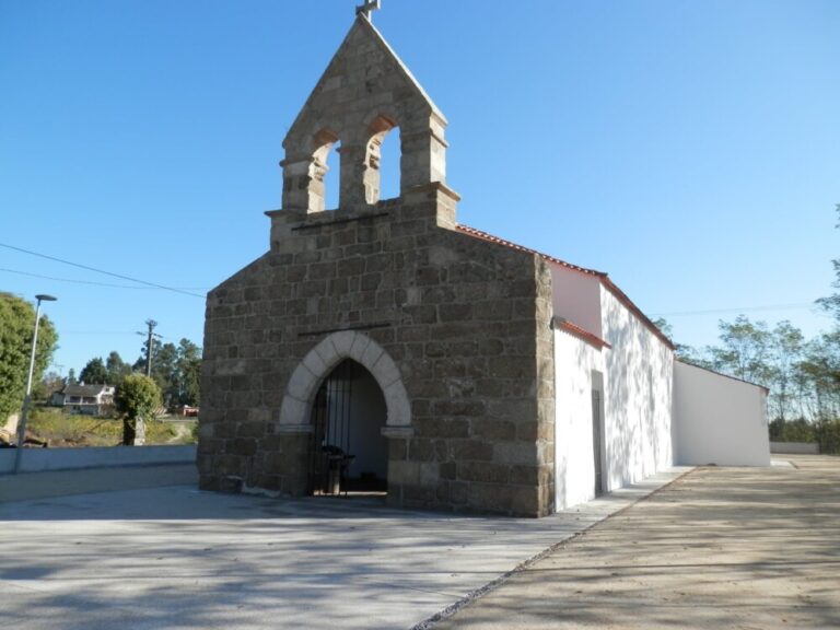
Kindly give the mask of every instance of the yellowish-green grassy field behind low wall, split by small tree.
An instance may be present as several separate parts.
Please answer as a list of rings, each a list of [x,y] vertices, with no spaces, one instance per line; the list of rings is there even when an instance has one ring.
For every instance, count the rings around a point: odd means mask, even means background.
[[[145,443],[194,444],[191,422],[147,421]],[[46,441],[51,447],[117,446],[122,442],[122,420],[71,416],[54,407],[35,407],[26,422],[28,433]]]

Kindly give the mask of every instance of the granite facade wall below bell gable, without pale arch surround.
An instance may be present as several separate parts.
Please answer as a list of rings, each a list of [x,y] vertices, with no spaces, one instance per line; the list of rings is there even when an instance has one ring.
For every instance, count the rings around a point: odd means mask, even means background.
[[[430,186],[362,211],[271,213],[271,250],[208,299],[202,488],[306,491],[312,434],[280,422],[289,380],[325,338],[355,330],[410,402],[408,423],[384,432],[389,502],[551,511],[550,275],[451,230],[453,212]]]

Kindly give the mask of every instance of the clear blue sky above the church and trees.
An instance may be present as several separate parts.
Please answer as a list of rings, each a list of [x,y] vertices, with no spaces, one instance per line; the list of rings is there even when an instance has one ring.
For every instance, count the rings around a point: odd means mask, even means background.
[[[0,0],[0,243],[203,294],[267,249],[283,136],[354,4]],[[840,2],[383,0],[374,23],[450,120],[462,223],[609,272],[679,342],[745,308],[830,326],[808,304],[839,254]],[[0,290],[58,296],[63,374],[133,361],[150,317],[201,343],[200,296],[7,247]]]

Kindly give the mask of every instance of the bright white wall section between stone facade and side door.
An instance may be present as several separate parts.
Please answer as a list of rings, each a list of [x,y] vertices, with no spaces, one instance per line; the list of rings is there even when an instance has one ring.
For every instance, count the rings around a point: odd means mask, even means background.
[[[604,352],[608,350],[598,350],[564,330],[555,330],[556,510],[595,497],[592,372],[604,371]]]

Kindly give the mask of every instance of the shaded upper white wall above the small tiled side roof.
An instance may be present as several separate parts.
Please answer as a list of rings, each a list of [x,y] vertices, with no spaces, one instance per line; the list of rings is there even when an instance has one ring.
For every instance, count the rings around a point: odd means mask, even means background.
[[[556,262],[550,264],[550,269],[555,316],[600,337],[600,280]]]

